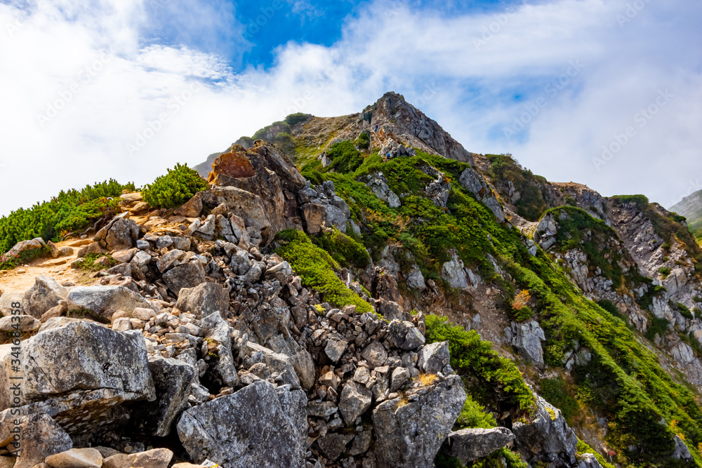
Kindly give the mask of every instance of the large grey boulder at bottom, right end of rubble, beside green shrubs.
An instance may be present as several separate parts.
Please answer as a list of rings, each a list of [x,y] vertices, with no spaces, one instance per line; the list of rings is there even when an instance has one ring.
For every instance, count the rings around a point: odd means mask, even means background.
[[[373,410],[378,468],[430,468],[465,403],[458,375],[439,382],[426,394],[404,406],[399,399]]]

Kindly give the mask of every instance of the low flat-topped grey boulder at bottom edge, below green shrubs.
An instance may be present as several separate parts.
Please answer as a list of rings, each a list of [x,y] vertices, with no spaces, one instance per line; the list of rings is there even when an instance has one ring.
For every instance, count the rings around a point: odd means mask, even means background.
[[[463,464],[468,464],[490,455],[495,450],[512,446],[514,441],[515,434],[506,427],[461,429],[449,434],[442,446],[442,452],[458,458]]]

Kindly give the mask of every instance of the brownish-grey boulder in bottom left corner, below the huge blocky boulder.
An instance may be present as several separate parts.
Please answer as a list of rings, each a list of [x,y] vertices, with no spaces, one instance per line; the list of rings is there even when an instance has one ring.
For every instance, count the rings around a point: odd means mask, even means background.
[[[18,446],[7,447],[11,452],[19,450],[14,465],[18,468],[32,468],[46,457],[73,447],[70,436],[46,413],[27,414],[20,410],[18,414],[16,409],[0,413],[0,440],[5,441],[4,444],[13,440],[18,429]]]

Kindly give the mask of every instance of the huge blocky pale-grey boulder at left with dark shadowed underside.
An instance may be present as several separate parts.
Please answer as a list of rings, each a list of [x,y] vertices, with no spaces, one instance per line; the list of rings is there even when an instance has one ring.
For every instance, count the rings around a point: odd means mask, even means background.
[[[67,323],[22,342],[24,373],[21,404],[46,413],[69,434],[94,431],[124,421],[122,403],[155,398],[144,337],[117,333],[88,321]],[[11,372],[11,354],[0,353],[2,373]],[[10,386],[0,388],[8,408]]]

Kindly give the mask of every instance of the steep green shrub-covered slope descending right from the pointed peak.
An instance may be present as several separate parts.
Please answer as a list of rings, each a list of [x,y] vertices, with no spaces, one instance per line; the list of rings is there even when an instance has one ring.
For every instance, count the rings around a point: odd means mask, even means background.
[[[364,148],[363,133],[370,141],[359,159],[352,154],[356,149],[342,148],[342,142]],[[591,422],[581,421],[581,435],[600,447],[604,436],[621,462],[652,461],[667,450],[664,446],[675,446],[663,443],[662,434],[653,442],[647,431],[657,423],[643,429],[642,420],[629,419],[628,406],[618,406],[621,399],[650,399],[637,404],[677,427],[679,420],[668,419],[672,413],[665,416],[673,406],[663,409],[658,401],[683,387],[669,377],[661,381],[663,369],[677,382],[695,386],[687,399],[702,387],[697,351],[702,322],[696,308],[702,297],[701,258],[674,215],[641,198],[605,199],[574,182],[548,182],[510,155],[467,152],[394,93],[352,116],[305,116],[290,126],[289,135],[295,147],[292,152],[289,145],[289,154],[303,175],[313,184],[334,182],[351,208],[347,232],[358,236],[388,273],[390,278],[379,284],[362,281],[374,295],[385,294],[405,309],[438,312],[479,330],[505,355],[520,354],[536,365],[525,370],[538,387],[560,369],[574,382],[574,401],[581,408],[599,408],[598,416],[609,420],[600,434],[587,429]],[[463,196],[476,207],[489,208],[487,218],[464,205]],[[497,224],[505,218],[526,238],[505,238],[502,233],[511,232],[510,225]],[[540,280],[532,282],[532,274]],[[531,297],[524,307],[529,312],[510,306],[517,297],[515,286]],[[538,325],[525,326],[532,317]],[[580,338],[571,342],[571,336]],[[588,342],[584,348],[583,340]],[[627,344],[620,349],[623,342]],[[593,377],[608,373],[602,380]],[[618,388],[614,398],[609,390],[604,392],[612,385]],[[689,408],[682,401],[675,404]],[[693,415],[697,409],[684,413],[690,421],[698,417]]]

